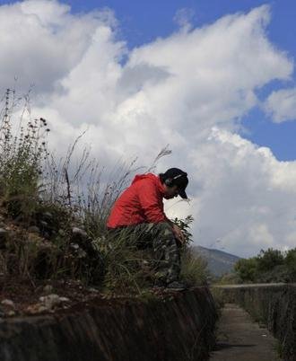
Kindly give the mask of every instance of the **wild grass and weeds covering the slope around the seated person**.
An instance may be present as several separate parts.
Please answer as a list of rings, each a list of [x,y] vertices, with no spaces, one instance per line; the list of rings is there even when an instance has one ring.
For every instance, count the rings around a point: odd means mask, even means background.
[[[57,161],[48,151],[47,120],[30,119],[29,100],[24,100],[21,119],[15,122],[13,112],[22,99],[8,89],[0,114],[0,284],[4,295],[11,295],[8,290],[12,289],[17,292],[13,285],[29,285],[35,292],[48,283],[66,287],[77,282],[81,289],[94,286],[117,294],[143,293],[153,281],[152,255],[137,250],[124,233],[114,240],[106,230],[109,209],[136,171],[135,161],[118,166],[113,177],[117,181],[102,181],[107,177],[86,150],[78,166],[72,164],[79,139],[65,159]],[[24,119],[26,110],[29,121]],[[165,154],[166,149],[156,161]],[[187,238],[182,275],[190,285],[203,283],[204,264],[193,260],[188,251],[192,218],[175,222]]]

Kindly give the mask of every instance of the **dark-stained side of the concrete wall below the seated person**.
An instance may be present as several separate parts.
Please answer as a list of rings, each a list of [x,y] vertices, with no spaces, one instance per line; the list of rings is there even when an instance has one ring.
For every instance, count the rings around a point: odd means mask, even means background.
[[[0,322],[1,361],[205,361],[216,312],[206,287]]]

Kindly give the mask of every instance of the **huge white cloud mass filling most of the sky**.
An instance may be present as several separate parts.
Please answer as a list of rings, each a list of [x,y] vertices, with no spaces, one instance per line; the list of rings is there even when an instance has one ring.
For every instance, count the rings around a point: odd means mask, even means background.
[[[123,155],[149,164],[170,144],[156,171],[189,173],[191,203],[167,208],[195,216],[196,242],[219,239],[239,255],[289,247],[295,164],[236,134],[259,103],[256,90],[292,75],[266,36],[269,20],[261,6],[127,50],[110,11],[73,14],[47,0],[0,6],[0,84],[14,75],[21,89],[36,84],[32,115],[48,119],[58,151],[85,128],[105,164]]]

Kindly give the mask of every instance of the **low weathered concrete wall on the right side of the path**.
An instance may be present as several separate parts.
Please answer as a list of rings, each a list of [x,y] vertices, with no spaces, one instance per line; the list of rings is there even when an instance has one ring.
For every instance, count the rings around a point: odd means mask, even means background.
[[[296,285],[265,284],[215,287],[225,302],[236,303],[254,320],[266,323],[280,341],[284,361],[296,361]]]

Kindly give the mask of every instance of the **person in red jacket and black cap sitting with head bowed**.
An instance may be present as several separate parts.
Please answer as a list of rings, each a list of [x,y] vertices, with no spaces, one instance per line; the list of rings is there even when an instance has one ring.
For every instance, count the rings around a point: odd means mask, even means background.
[[[138,244],[151,247],[157,260],[157,286],[184,289],[179,282],[180,255],[178,246],[185,241],[178,225],[163,211],[163,198],[187,198],[187,172],[170,168],[159,176],[136,175],[118,198],[108,219],[109,230],[136,234]]]

